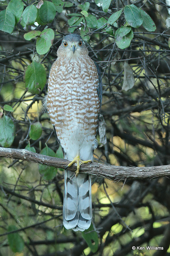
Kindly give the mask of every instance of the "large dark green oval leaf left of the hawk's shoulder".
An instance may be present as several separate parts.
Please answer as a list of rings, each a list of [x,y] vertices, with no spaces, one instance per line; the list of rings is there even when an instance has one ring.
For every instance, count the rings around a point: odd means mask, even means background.
[[[38,93],[46,84],[46,71],[45,68],[38,62],[32,63],[25,69],[24,76],[25,87],[31,93]]]

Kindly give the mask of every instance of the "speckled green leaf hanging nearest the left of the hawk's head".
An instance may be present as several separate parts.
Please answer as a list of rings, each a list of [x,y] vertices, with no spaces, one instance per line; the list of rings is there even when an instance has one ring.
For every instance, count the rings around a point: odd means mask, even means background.
[[[37,38],[36,50],[38,54],[45,54],[53,44],[54,31],[51,28],[44,29]]]

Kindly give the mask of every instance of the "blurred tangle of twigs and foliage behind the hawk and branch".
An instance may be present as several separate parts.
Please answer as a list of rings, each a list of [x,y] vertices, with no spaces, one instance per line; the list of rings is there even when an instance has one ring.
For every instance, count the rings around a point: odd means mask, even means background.
[[[124,12],[113,24],[107,21],[131,4],[152,18],[156,30],[131,28],[129,47],[120,49],[115,33],[128,25]],[[1,0],[1,146],[63,157],[42,99],[62,37],[74,32],[86,41],[90,57],[102,71],[101,114],[106,124],[101,124],[106,127],[106,140],[97,135],[95,161],[118,166],[170,164],[169,13],[168,0],[18,0],[18,4]],[[124,63],[129,64],[125,64],[129,76]],[[125,88],[128,81],[130,87]],[[32,83],[40,89],[32,91]],[[168,177],[95,177],[93,229],[99,242],[95,250],[81,232],[63,228],[62,170],[1,158],[0,188],[0,256],[170,255]],[[142,248],[147,245],[154,248]],[[158,246],[164,249],[156,250]]]

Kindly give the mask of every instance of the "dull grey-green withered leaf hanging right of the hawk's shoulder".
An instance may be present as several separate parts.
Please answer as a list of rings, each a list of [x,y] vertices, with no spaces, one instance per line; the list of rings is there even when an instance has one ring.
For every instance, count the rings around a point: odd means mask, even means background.
[[[133,70],[128,63],[124,62],[124,82],[123,82],[122,90],[128,91],[134,86],[134,84],[135,84],[135,79],[133,75]]]

